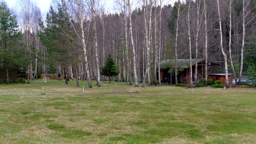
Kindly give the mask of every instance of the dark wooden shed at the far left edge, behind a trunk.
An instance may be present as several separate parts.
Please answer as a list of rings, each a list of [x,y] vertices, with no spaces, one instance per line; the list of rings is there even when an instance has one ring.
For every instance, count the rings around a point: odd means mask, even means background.
[[[12,83],[14,83],[15,80],[18,79],[18,69],[9,68],[8,73],[9,73],[9,79],[12,80]],[[5,68],[0,68],[0,80],[2,80],[4,83],[7,83]]]

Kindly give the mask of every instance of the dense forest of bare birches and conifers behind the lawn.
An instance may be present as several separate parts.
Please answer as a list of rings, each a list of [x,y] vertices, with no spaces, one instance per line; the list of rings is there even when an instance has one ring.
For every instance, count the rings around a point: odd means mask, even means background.
[[[136,2],[135,7],[130,0],[117,0],[116,12],[107,13],[98,0],[57,0],[46,17],[31,0],[20,0],[12,11],[2,2],[1,13],[9,13],[16,24],[13,33],[3,33],[8,30],[1,14],[0,66],[18,65],[32,79],[61,71],[77,86],[81,76],[92,88],[91,80],[100,87],[108,79],[100,70],[108,54],[120,71],[112,79],[135,86],[161,85],[157,77],[164,59],[174,59],[170,72],[176,83],[177,59],[190,59],[190,65],[192,59],[204,59],[206,79],[208,63],[221,63],[218,71],[226,79],[233,73],[239,82],[255,65],[256,0],[177,0],[173,6],[162,0]],[[197,75],[197,62],[194,72],[190,68],[190,84],[192,73]]]

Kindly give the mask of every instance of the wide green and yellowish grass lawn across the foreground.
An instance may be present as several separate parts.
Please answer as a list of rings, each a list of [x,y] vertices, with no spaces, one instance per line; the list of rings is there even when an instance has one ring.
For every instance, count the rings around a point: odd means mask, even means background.
[[[47,82],[0,85],[0,143],[256,143],[255,88]]]

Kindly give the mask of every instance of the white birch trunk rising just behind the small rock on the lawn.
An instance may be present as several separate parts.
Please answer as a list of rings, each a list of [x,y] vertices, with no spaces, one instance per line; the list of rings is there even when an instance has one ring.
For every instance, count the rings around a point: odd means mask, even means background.
[[[131,46],[132,46],[132,56],[133,56],[133,72],[134,72],[134,81],[135,81],[135,87],[138,87],[138,77],[137,77],[137,66],[136,66],[136,54],[135,54],[135,46],[132,36],[132,25],[131,25],[131,3],[130,0],[128,0],[128,12],[129,12],[129,23],[130,23],[130,35],[131,35]]]

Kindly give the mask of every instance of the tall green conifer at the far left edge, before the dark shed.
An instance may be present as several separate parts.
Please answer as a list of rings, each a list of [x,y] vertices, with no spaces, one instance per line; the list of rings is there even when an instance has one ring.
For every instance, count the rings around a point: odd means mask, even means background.
[[[0,67],[5,67],[7,85],[9,85],[9,68],[22,66],[25,56],[24,49],[18,47],[20,38],[16,16],[10,11],[6,3],[0,3]]]

